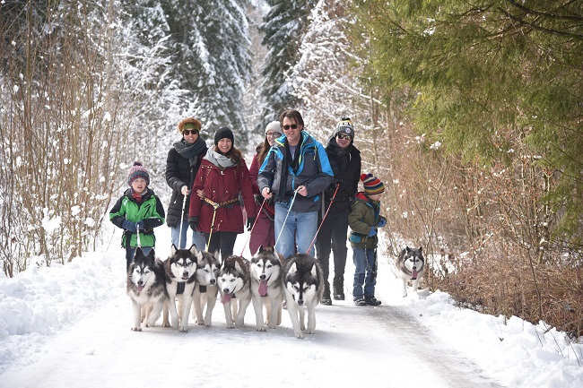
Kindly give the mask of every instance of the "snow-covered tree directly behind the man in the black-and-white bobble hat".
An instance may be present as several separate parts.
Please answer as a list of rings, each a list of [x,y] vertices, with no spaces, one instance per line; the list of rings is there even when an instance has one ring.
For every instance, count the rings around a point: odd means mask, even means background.
[[[300,57],[287,82],[300,99],[310,134],[326,141],[342,116],[350,116],[357,140],[370,129],[370,98],[362,92],[358,75],[361,59],[353,50],[347,30],[356,22],[349,13],[351,0],[320,0],[309,16],[309,29],[301,39]],[[360,133],[360,134],[359,134]]]

